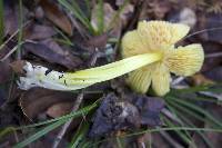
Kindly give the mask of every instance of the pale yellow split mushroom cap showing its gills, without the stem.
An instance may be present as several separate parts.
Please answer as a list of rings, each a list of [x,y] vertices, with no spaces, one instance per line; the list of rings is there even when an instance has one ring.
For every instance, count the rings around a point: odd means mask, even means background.
[[[201,45],[174,47],[188,34],[189,30],[188,26],[180,23],[141,21],[137,30],[123,37],[123,58],[142,53],[162,55],[161,60],[129,73],[127,81],[133,90],[145,93],[152,86],[158,96],[164,96],[170,90],[170,72],[178,76],[191,76],[201,69],[204,60]]]

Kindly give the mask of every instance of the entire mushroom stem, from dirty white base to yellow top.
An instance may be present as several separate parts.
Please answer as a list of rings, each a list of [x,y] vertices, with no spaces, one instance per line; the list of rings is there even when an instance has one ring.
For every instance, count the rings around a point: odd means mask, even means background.
[[[77,90],[97,82],[120,77],[161,59],[161,53],[144,53],[75,72],[58,72],[49,70],[46,67],[32,66],[30,62],[27,62],[23,67],[27,75],[26,77],[20,77],[18,85],[24,90],[32,87],[43,87],[56,90]]]

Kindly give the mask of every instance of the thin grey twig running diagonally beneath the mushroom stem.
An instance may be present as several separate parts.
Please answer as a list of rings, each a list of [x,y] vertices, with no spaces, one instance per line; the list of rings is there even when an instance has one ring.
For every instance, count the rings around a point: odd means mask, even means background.
[[[97,58],[98,58],[98,56],[94,55],[94,60],[92,60],[90,62],[90,66],[94,66],[95,65]],[[72,112],[74,112],[74,111],[77,111],[79,109],[79,107],[80,107],[80,105],[81,105],[81,102],[83,100],[83,91],[84,90],[82,90],[78,95],[77,100],[74,101],[74,106],[72,107]],[[71,125],[71,122],[72,122],[72,119],[70,119],[69,121],[67,121],[65,125],[62,127],[62,129],[59,131],[59,134],[58,134],[58,136],[57,136],[57,138],[56,138],[56,140],[53,142],[52,148],[57,148],[59,146],[60,141],[62,140],[62,137],[64,136],[64,134],[65,134],[67,129],[69,128],[69,126]]]

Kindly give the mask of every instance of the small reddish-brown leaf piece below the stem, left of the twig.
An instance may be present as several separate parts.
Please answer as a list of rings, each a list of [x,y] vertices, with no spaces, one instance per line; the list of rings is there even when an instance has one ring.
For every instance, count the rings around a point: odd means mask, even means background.
[[[50,117],[53,117],[53,118],[67,115],[72,110],[72,106],[73,105],[70,102],[56,103],[56,105],[51,106],[50,108],[48,108],[47,115]]]

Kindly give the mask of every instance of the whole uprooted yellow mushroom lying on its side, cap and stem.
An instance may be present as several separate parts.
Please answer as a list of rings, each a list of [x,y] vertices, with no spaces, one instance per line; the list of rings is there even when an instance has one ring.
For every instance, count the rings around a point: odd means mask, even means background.
[[[27,62],[26,77],[18,82],[21,89],[43,87],[56,90],[77,90],[107,81],[128,72],[128,82],[138,92],[152,88],[158,96],[170,90],[170,72],[190,76],[199,71],[204,59],[201,45],[174,48],[174,43],[189,32],[189,27],[165,21],[142,21],[138,29],[122,39],[120,61],[74,72],[58,72]],[[138,69],[138,70],[137,70]]]

